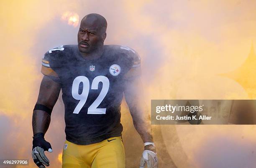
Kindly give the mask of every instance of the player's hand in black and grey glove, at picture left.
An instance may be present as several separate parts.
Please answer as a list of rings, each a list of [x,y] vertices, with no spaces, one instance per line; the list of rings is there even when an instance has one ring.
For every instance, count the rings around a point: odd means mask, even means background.
[[[36,133],[33,137],[32,157],[39,168],[49,166],[49,159],[44,151],[52,152],[51,144],[44,139],[44,133]]]

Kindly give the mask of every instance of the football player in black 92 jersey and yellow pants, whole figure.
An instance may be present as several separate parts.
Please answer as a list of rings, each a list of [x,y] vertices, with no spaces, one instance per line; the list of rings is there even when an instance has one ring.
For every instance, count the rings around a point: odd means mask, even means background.
[[[141,98],[141,59],[131,48],[104,45],[107,21],[86,15],[77,34],[78,45],[47,51],[33,110],[32,156],[40,168],[49,166],[44,151],[52,152],[44,135],[51,111],[62,90],[66,142],[62,168],[125,168],[120,104],[125,95],[133,124],[144,142],[140,167],[157,167],[149,115]]]

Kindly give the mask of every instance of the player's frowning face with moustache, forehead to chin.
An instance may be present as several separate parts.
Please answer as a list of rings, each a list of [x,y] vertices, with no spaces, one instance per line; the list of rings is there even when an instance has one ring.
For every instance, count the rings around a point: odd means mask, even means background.
[[[89,24],[86,21],[82,21],[77,34],[77,40],[80,52],[92,53],[103,45],[105,39],[102,39],[102,33],[97,24]]]

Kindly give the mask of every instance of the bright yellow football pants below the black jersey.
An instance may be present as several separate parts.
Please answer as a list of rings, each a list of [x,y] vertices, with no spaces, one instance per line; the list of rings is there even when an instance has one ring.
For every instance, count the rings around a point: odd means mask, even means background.
[[[66,140],[62,168],[125,168],[122,138],[112,137],[90,145],[77,145]]]

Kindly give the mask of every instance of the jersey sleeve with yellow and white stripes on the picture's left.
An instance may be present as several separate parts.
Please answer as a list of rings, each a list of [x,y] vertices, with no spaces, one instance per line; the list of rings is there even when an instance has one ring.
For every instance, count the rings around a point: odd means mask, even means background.
[[[54,55],[51,55],[49,51],[44,54],[42,58],[41,73],[57,83],[60,83],[58,74],[54,70]]]

